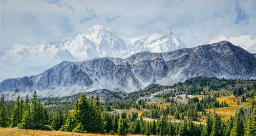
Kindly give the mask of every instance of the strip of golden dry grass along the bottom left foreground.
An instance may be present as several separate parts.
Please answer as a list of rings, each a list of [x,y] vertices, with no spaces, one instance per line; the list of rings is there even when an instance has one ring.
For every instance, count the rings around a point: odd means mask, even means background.
[[[63,131],[45,131],[45,130],[28,130],[28,129],[14,129],[14,128],[2,128],[0,127],[0,135],[1,136],[31,136],[31,135],[47,135],[47,136],[60,136],[60,135],[77,135],[77,136],[104,136],[108,134],[92,134],[92,133],[73,133],[73,132],[63,132]],[[128,134],[129,135],[129,134]],[[136,135],[133,135],[136,136]]]

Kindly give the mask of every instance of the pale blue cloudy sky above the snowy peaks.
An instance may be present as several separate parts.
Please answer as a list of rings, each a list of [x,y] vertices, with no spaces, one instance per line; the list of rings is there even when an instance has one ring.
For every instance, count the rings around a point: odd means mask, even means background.
[[[0,49],[49,44],[99,24],[125,38],[172,30],[188,47],[219,35],[256,38],[256,0],[0,0]]]

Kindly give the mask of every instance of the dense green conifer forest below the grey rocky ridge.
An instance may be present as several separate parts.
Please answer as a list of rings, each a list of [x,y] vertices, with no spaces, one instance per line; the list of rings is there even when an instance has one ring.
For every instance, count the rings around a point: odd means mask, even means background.
[[[199,86],[196,86],[197,83]],[[228,90],[229,86],[235,84],[243,82],[218,78],[191,78],[172,87],[160,87],[152,92],[144,92],[144,95],[138,91],[133,93],[135,98],[130,100],[124,97],[104,102],[100,101],[98,96],[88,97],[86,93],[66,98],[39,99],[35,91],[31,99],[27,95],[26,98],[17,96],[15,100],[9,100],[9,96],[2,94],[0,127],[120,135],[256,135],[255,82],[246,88],[230,90],[236,97],[244,94],[240,102],[245,102],[246,98],[252,99],[248,108],[238,108],[236,114],[227,120],[222,120],[215,111],[206,111],[229,106],[226,101],[217,100],[218,97],[225,96],[218,91]],[[207,93],[213,90],[216,92],[206,95],[203,89],[205,86],[208,87]],[[175,88],[177,92],[156,95],[164,99],[168,103],[167,106],[152,102],[150,98],[136,99],[169,88]],[[186,103],[181,103],[174,99],[180,91],[185,91],[186,97],[202,95],[202,98],[193,97]],[[142,110],[142,114],[139,116],[137,112],[115,112],[132,108]],[[195,122],[199,113],[207,117],[205,122]]]

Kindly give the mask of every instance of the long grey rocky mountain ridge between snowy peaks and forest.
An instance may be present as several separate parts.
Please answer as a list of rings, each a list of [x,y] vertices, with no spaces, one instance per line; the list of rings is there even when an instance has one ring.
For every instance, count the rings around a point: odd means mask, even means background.
[[[5,93],[40,97],[108,89],[133,92],[150,84],[173,85],[190,77],[256,78],[256,58],[230,42],[201,45],[166,53],[139,52],[126,59],[97,58],[62,62],[47,71],[0,83]]]

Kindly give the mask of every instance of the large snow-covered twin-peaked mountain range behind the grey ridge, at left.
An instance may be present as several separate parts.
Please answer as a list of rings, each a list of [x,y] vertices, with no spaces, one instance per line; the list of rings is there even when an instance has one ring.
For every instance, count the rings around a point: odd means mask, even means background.
[[[128,40],[127,40],[128,39]],[[0,50],[0,81],[33,75],[62,61],[83,61],[102,57],[129,57],[140,51],[167,52],[186,45],[171,31],[121,38],[109,28],[93,25],[87,32],[52,42],[50,45],[16,44]]]

